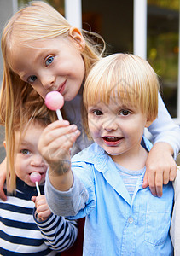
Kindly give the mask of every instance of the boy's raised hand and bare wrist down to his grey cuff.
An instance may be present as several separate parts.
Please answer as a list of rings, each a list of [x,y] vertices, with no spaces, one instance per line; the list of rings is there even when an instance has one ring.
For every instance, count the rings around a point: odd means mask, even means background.
[[[73,185],[70,148],[80,135],[76,125],[55,121],[48,125],[38,142],[38,150],[49,164],[49,180],[55,189],[65,191]]]

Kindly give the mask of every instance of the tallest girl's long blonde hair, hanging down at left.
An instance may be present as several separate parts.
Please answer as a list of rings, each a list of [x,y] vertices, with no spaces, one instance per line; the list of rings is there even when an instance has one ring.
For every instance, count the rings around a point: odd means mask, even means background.
[[[34,40],[44,38],[65,38],[69,36],[71,27],[58,11],[43,1],[32,1],[12,16],[4,27],[1,42],[3,53],[3,83],[0,95],[0,124],[5,125],[6,141],[9,145],[7,157],[10,160],[8,160],[10,168],[11,162],[13,162],[13,145],[11,144],[15,140],[13,134],[15,113],[20,113],[19,121],[23,124],[24,120],[22,119],[21,113],[24,113],[23,106],[25,102],[28,101],[29,105],[32,104],[30,95],[32,96],[32,101],[36,102],[36,111],[40,112],[44,105],[44,101],[33,90],[32,86],[22,81],[11,69],[10,53],[13,50],[15,38],[18,38],[20,44],[26,45]],[[90,67],[101,58],[104,48],[102,49],[90,39],[91,34],[96,38],[101,38],[100,36],[85,31],[82,31],[82,34],[86,42],[84,51],[82,52],[85,79],[90,71]],[[102,43],[104,44],[103,39]],[[11,188],[13,187],[12,185]]]

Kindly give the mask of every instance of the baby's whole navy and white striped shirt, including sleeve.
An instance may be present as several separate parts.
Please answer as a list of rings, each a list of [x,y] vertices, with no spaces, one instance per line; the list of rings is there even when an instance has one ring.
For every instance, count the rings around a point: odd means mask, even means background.
[[[40,191],[43,195],[44,185]],[[53,213],[44,222],[38,222],[32,195],[37,195],[36,188],[17,178],[16,195],[0,200],[1,255],[50,256],[73,245],[78,234],[76,222]]]

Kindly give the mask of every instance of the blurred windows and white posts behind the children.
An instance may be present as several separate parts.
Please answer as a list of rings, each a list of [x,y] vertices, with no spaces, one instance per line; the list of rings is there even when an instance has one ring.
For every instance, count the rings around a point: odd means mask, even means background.
[[[0,31],[17,9],[30,1],[0,0]],[[161,96],[171,117],[180,124],[179,0],[49,0],[79,28],[102,35],[107,55],[141,55],[160,76]],[[0,55],[0,80],[3,61]],[[3,131],[1,132],[3,136]],[[2,137],[3,138],[3,137]],[[1,139],[2,145],[3,139]],[[3,153],[0,154],[0,160]]]

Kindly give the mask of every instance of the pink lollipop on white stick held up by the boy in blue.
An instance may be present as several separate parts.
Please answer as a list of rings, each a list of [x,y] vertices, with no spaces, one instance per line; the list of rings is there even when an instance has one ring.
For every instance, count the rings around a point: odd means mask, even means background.
[[[64,105],[64,98],[60,92],[50,91],[45,97],[45,104],[49,109],[55,110],[58,119],[62,120],[60,109]]]

